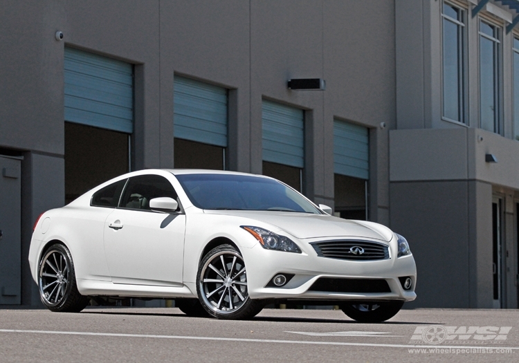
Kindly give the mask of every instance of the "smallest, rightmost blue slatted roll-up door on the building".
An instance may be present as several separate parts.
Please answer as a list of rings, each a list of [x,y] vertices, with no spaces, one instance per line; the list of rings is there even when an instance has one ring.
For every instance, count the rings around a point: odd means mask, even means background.
[[[334,172],[367,180],[369,178],[368,129],[334,120]]]

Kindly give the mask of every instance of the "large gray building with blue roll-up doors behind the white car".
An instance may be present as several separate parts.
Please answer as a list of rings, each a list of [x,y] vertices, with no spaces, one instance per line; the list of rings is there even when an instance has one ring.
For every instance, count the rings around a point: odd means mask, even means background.
[[[2,5],[0,304],[41,304],[40,213],[188,167],[274,176],[403,234],[408,307],[518,308],[519,1]]]

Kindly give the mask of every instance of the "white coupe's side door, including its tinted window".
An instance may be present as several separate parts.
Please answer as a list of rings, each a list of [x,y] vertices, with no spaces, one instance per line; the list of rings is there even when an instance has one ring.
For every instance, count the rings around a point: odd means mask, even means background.
[[[113,283],[181,286],[185,215],[154,212],[149,201],[177,198],[169,180],[129,178],[119,207],[104,223],[104,251]]]

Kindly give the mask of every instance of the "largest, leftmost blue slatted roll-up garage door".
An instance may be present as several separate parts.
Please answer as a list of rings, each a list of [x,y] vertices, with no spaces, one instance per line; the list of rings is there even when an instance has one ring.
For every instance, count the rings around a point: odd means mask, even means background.
[[[133,66],[65,48],[65,121],[132,133]]]

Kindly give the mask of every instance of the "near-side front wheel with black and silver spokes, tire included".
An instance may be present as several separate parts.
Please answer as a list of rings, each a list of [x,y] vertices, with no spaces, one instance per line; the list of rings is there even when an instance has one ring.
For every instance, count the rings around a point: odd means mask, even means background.
[[[212,317],[250,319],[263,308],[248,296],[245,263],[232,245],[219,245],[203,257],[197,281],[200,303]]]

